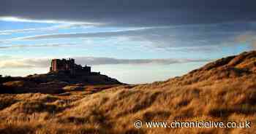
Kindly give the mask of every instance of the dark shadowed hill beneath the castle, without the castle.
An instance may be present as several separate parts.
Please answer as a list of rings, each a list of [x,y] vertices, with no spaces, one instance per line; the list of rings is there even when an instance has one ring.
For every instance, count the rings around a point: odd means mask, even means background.
[[[63,73],[34,74],[25,77],[0,78],[1,93],[62,93],[64,88],[74,84],[122,84],[102,74],[69,75]]]

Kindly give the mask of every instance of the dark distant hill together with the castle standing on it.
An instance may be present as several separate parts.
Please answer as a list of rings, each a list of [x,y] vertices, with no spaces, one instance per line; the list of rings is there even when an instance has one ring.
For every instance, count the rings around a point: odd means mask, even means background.
[[[122,84],[117,79],[92,72],[90,66],[75,64],[74,59],[54,59],[48,74],[25,77],[0,77],[0,93],[61,93],[70,85]]]

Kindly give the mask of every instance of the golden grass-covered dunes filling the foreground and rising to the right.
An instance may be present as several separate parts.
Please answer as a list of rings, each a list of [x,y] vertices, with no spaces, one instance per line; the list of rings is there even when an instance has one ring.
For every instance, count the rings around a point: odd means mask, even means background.
[[[255,133],[256,51],[165,82],[81,87],[61,94],[3,94],[0,133]],[[18,83],[19,84],[19,83]],[[97,92],[98,91],[98,92]],[[20,122],[14,119],[26,117]],[[6,122],[6,119],[8,122]],[[28,121],[29,119],[29,121]],[[250,128],[147,128],[145,122],[251,122]],[[12,124],[10,122],[12,121]]]

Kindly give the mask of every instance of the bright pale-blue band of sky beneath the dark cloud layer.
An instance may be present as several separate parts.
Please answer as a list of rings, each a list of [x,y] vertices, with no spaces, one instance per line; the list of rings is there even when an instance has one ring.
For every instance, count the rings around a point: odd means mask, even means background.
[[[46,66],[26,66],[23,60],[51,58],[115,58],[115,59],[189,59],[184,63],[99,63],[94,71],[127,83],[145,83],[179,76],[203,66],[208,61],[252,49],[249,42],[236,42],[246,27],[255,25],[236,23],[226,25],[168,25],[164,28],[122,28],[81,26],[62,23],[17,22],[1,20],[0,57],[3,75],[26,76],[47,73]],[[244,29],[234,30],[234,26]],[[249,26],[247,26],[249,25]],[[232,28],[229,28],[232,26]],[[218,29],[215,29],[218,28]],[[122,32],[121,36],[98,33]],[[164,31],[164,32],[163,32]],[[241,31],[241,33],[240,33]],[[148,34],[148,32],[152,32]],[[95,33],[93,36],[23,39],[42,35]],[[154,35],[155,34],[155,35]],[[222,36],[225,35],[225,36]],[[7,60],[12,62],[8,63]],[[95,59],[94,59],[95,60]],[[95,61],[96,62],[96,61]],[[16,64],[17,65],[16,65]],[[81,64],[86,61],[80,61]]]

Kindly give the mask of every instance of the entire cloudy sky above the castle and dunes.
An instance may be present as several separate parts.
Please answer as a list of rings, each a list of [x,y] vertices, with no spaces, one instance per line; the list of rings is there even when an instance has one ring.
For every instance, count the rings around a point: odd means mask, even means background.
[[[0,74],[75,58],[129,84],[181,76],[256,49],[251,0],[1,0]]]

